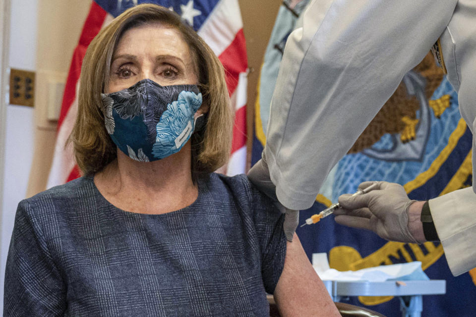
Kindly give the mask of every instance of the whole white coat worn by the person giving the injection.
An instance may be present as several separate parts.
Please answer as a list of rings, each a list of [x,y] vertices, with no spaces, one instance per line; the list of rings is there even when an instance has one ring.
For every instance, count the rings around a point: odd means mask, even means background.
[[[286,44],[263,152],[285,207],[312,206],[331,168],[438,38],[462,116],[474,131],[475,0],[309,4],[303,27]],[[475,157],[473,151],[474,175]],[[475,267],[476,194],[459,190],[429,204],[452,273]]]

